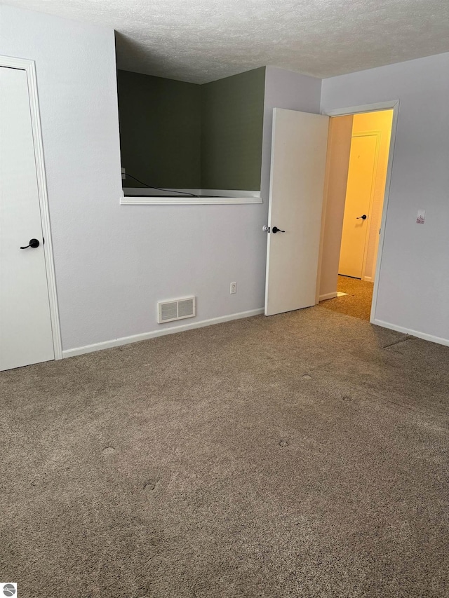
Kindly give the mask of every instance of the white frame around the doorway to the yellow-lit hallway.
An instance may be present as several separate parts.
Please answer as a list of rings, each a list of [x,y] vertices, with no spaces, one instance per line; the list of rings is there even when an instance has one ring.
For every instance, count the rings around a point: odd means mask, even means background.
[[[377,248],[377,257],[376,257],[376,270],[375,270],[375,279],[374,279],[374,289],[373,289],[373,301],[371,303],[371,313],[370,313],[370,323],[375,323],[375,314],[376,314],[376,307],[377,307],[377,294],[379,293],[379,279],[380,279],[380,271],[382,269],[382,258],[384,253],[384,238],[385,238],[385,228],[387,224],[387,211],[388,211],[388,203],[389,203],[389,194],[390,194],[390,186],[391,186],[391,170],[393,168],[393,157],[394,157],[394,146],[396,143],[396,128],[398,123],[398,114],[399,114],[399,100],[391,100],[390,102],[377,102],[375,104],[363,104],[361,106],[351,106],[347,108],[337,108],[334,110],[323,111],[321,114],[326,114],[326,116],[349,116],[351,114],[363,114],[363,112],[378,112],[381,110],[393,110],[393,120],[391,121],[391,138],[390,138],[390,145],[389,145],[389,154],[388,154],[388,165],[387,165],[387,179],[385,181],[385,192],[384,192],[384,203],[382,205],[382,218],[380,221],[380,238],[379,238],[379,245]],[[323,210],[323,220],[326,216],[326,206],[324,206]],[[321,247],[320,253],[323,248],[323,235],[321,235]]]

